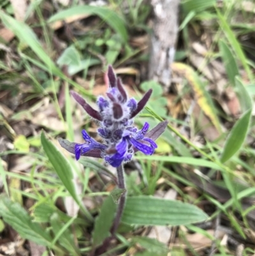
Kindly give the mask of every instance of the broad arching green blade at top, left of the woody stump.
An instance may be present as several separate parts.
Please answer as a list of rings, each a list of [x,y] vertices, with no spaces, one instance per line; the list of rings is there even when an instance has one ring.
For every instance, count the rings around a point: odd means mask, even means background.
[[[117,33],[122,36],[124,41],[128,40],[128,33],[126,31],[126,25],[123,19],[116,13],[116,11],[110,10],[109,8],[90,6],[90,5],[79,5],[71,7],[67,10],[59,11],[50,19],[48,22],[55,22],[56,20],[64,20],[74,15],[98,15],[103,19],[109,26],[111,26]]]

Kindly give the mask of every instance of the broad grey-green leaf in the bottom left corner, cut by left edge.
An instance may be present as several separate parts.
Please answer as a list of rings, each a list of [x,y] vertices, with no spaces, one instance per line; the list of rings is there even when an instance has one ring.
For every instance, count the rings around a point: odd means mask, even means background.
[[[31,220],[25,209],[16,202],[1,195],[0,216],[24,239],[28,239],[38,245],[50,246],[52,237],[41,228],[38,223]]]

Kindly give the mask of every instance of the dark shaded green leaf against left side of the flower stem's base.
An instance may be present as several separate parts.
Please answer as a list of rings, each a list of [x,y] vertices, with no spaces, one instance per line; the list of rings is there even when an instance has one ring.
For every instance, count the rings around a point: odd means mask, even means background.
[[[113,219],[116,211],[116,204],[112,197],[107,197],[103,202],[99,216],[95,220],[94,230],[92,232],[93,245],[99,246],[109,237]]]

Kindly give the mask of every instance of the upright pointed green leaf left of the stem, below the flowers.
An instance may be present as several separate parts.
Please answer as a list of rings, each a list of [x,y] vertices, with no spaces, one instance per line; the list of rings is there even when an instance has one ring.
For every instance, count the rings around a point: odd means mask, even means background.
[[[55,172],[57,172],[57,175],[59,176],[59,179],[61,179],[66,190],[68,190],[75,202],[82,207],[87,218],[92,221],[92,216],[81,204],[81,200],[75,191],[75,186],[73,184],[73,171],[66,157],[64,157],[59,149],[57,149],[57,147],[45,137],[44,132],[41,132],[41,145],[43,146],[43,149],[48,156],[48,160],[50,160],[50,163],[54,167]]]

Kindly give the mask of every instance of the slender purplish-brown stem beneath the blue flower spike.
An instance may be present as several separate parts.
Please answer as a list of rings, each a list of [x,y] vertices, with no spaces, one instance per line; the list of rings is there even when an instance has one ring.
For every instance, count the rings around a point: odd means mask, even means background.
[[[119,188],[121,189],[125,189],[125,180],[124,180],[124,168],[123,165],[120,165],[119,167],[117,167],[117,177],[118,177],[118,185]],[[119,227],[119,223],[120,223],[120,219],[124,210],[124,206],[125,206],[125,202],[126,202],[126,192],[124,192],[121,196],[120,196],[120,200],[119,200],[119,204],[118,204],[118,209],[117,209],[117,214],[115,217],[115,220],[113,222],[113,226],[112,226],[112,234],[115,234],[115,232],[117,231],[118,227]]]

